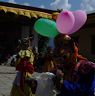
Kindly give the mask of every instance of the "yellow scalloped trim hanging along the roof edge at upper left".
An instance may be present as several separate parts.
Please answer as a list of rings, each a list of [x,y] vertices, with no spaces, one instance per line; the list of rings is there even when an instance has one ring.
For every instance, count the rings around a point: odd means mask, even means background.
[[[34,11],[34,10],[0,6],[0,11],[4,11],[5,13],[11,12],[16,15],[23,15],[23,16],[26,16],[30,19],[33,17],[34,18],[42,17],[42,18],[52,19],[52,14],[40,12],[40,11]]]

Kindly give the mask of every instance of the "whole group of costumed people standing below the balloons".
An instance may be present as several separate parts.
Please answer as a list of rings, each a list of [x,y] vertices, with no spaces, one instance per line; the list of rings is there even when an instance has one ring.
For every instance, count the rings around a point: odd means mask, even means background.
[[[29,40],[23,42],[16,57],[17,75],[11,96],[36,96],[38,82],[32,78],[34,72],[54,74],[52,81],[56,96],[95,95],[95,64],[79,54],[71,37],[57,35],[54,38],[55,49],[47,47],[45,55],[33,50]]]

